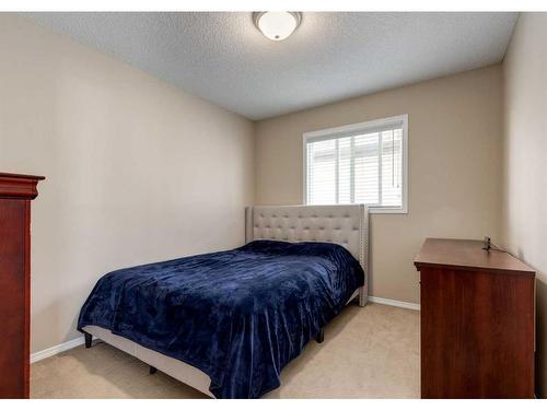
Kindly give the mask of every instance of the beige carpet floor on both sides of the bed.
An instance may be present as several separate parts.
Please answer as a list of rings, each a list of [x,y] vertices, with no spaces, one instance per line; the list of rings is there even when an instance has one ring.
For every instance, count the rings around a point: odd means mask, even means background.
[[[348,306],[281,373],[266,398],[418,398],[418,312],[379,304]],[[97,343],[35,363],[33,398],[206,398],[130,355]]]

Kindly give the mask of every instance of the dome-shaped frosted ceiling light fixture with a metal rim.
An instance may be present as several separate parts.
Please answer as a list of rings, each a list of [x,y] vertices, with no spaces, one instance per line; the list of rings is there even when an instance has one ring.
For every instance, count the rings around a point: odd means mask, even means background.
[[[269,39],[280,42],[289,37],[302,21],[296,11],[260,11],[253,13],[256,27]]]

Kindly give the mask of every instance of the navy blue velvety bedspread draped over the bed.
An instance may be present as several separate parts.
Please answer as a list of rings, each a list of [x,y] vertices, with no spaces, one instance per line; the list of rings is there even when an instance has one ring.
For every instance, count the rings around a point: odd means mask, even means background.
[[[217,398],[256,398],[363,284],[359,262],[326,243],[255,241],[105,274],[78,328],[96,325],[182,360]]]

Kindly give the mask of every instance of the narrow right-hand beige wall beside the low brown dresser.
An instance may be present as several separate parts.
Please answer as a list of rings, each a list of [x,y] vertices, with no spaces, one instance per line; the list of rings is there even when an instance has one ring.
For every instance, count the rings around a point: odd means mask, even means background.
[[[547,396],[547,14],[519,16],[503,61],[504,246],[537,270],[537,390]]]

